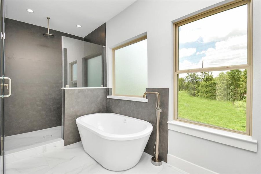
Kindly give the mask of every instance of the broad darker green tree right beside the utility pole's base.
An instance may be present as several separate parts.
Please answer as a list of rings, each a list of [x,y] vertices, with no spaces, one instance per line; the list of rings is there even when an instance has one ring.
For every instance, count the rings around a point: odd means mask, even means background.
[[[203,73],[202,81],[196,88],[196,96],[208,99],[216,99],[216,81],[209,72]]]

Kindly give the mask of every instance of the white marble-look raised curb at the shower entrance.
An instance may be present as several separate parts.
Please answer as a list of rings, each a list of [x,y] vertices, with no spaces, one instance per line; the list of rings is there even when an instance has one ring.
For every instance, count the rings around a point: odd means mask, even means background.
[[[40,155],[45,152],[54,151],[57,148],[64,146],[64,140],[61,138],[53,139],[48,142],[42,142],[40,144],[34,144],[32,146],[23,147],[21,149],[15,149],[5,152],[5,164],[22,160],[34,155]]]

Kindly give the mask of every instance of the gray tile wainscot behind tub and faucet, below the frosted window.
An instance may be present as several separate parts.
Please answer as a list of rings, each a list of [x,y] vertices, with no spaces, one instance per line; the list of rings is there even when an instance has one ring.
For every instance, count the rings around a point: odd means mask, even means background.
[[[160,113],[160,136],[159,136],[159,153],[163,161],[167,162],[167,153],[168,153],[168,88],[147,88],[147,91],[155,91],[160,93],[160,106],[162,112]],[[109,89],[107,93],[110,94]],[[109,99],[107,98],[106,102],[106,112],[107,113],[117,113],[121,115],[126,115],[129,117],[134,117],[138,119],[145,120],[150,122],[153,126],[153,131],[149,137],[147,146],[145,147],[145,152],[154,156],[154,143],[155,143],[155,116],[156,116],[156,95],[148,94],[147,95],[148,103],[145,102],[135,102],[128,100],[119,100],[119,99]]]

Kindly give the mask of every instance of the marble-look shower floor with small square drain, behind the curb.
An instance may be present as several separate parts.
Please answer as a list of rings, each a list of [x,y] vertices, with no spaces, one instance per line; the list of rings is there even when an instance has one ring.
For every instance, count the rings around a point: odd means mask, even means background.
[[[62,126],[57,126],[39,131],[7,136],[5,137],[5,151],[13,151],[19,148],[23,149],[26,146],[61,138],[61,127]]]

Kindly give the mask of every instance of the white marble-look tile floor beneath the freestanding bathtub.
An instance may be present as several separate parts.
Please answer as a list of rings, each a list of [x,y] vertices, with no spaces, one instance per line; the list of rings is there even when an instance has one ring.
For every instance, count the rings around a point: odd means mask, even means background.
[[[109,171],[98,164],[83,150],[81,142],[56,151],[35,155],[6,164],[6,174],[184,174],[185,172],[163,163],[153,166],[151,155],[143,153],[140,162],[126,171]]]

